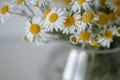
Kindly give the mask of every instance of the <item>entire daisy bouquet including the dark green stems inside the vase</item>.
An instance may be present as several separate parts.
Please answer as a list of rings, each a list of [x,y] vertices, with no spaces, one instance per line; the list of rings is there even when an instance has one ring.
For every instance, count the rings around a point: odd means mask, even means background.
[[[120,0],[4,0],[0,3],[2,23],[12,14],[27,19],[24,40],[28,42],[39,45],[62,40],[97,50],[120,45]],[[119,55],[96,57],[90,73],[94,79],[90,80],[120,79]]]

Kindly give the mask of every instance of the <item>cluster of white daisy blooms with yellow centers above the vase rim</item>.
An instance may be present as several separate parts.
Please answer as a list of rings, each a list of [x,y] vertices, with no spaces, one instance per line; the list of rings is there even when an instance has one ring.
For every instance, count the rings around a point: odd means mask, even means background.
[[[35,8],[42,14],[35,15]],[[56,40],[59,37],[50,35],[56,33],[66,35],[74,45],[110,48],[111,43],[115,42],[114,38],[120,37],[120,0],[5,1],[0,6],[1,21],[8,19],[10,14],[28,18],[25,40],[36,44]]]

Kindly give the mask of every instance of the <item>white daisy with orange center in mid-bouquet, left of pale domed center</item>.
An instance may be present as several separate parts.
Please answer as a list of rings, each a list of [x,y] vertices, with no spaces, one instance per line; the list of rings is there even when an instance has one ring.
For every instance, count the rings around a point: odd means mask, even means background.
[[[73,15],[68,14],[66,15],[65,22],[63,23],[63,26],[61,26],[60,30],[62,30],[63,34],[72,34],[75,32],[75,30],[78,29],[78,26],[80,26],[80,14],[75,13]]]

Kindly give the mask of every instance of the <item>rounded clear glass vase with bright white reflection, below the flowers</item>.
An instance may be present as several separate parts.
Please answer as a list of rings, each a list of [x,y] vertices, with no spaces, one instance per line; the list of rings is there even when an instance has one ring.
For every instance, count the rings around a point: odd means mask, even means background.
[[[120,80],[120,48],[81,49],[59,44],[43,71],[45,80]]]

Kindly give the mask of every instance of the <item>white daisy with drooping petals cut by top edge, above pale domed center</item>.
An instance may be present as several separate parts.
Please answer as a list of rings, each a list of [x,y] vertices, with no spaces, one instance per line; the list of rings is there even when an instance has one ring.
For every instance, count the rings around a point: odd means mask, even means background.
[[[89,4],[91,1],[92,0],[76,0],[73,3],[72,10],[74,12],[82,11],[82,8],[86,11],[91,10],[90,4]]]

